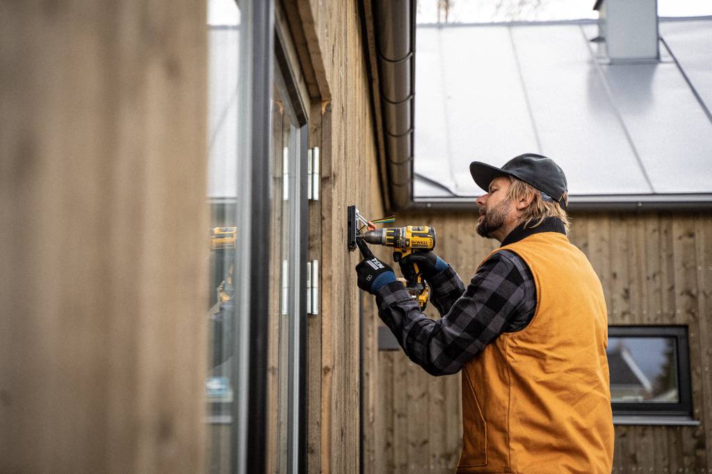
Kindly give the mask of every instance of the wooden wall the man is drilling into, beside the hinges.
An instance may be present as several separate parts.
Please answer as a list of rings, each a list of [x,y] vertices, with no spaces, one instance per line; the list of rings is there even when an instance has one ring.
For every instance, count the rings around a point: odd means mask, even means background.
[[[363,391],[360,373],[365,379],[374,373],[377,316],[370,305],[360,306],[354,268],[361,257],[347,251],[346,209],[356,205],[370,218],[383,213],[361,20],[355,0],[300,0],[295,12],[286,11],[300,16],[304,31],[295,37],[304,41],[303,48],[297,41],[303,65],[309,58],[313,68],[306,75],[317,81],[310,90],[320,94],[312,98],[310,115],[310,146],[320,147],[322,181],[320,201],[310,203],[309,258],[322,265],[320,314],[308,322],[308,468],[355,473],[362,402],[374,403],[373,384]],[[365,416],[373,419],[373,411]]]

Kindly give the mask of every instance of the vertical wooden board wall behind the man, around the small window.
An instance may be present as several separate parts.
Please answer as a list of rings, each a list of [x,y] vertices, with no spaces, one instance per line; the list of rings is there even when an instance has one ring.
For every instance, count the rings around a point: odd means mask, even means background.
[[[442,258],[467,282],[498,243],[474,214],[405,213],[428,224]],[[712,467],[712,215],[574,214],[570,240],[590,259],[609,324],[687,325],[693,418],[701,426],[616,426],[614,468],[707,472]],[[402,352],[379,352],[377,446],[368,472],[451,472],[461,448],[459,376],[431,377]],[[708,441],[709,440],[709,441]]]

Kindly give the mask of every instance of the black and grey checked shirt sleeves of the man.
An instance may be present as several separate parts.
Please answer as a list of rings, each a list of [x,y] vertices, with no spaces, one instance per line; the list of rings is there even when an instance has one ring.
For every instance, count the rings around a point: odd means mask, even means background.
[[[525,326],[536,308],[531,271],[510,251],[488,258],[467,288],[452,267],[428,283],[440,320],[420,312],[399,282],[378,290],[376,302],[379,316],[405,354],[432,375],[459,372],[503,332]]]

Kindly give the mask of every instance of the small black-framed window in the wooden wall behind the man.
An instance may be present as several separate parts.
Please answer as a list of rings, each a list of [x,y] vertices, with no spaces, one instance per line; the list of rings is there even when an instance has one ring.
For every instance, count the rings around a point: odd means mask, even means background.
[[[608,367],[614,416],[691,415],[684,326],[610,326]]]

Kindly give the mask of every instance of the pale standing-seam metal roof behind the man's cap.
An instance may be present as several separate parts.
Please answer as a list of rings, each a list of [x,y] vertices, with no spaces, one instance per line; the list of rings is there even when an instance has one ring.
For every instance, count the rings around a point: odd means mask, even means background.
[[[610,64],[595,21],[419,26],[415,201],[471,202],[471,161],[538,152],[572,204],[711,202],[712,18],[659,32],[659,62]]]

